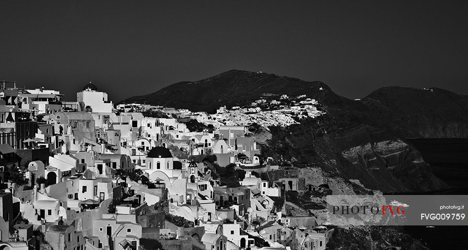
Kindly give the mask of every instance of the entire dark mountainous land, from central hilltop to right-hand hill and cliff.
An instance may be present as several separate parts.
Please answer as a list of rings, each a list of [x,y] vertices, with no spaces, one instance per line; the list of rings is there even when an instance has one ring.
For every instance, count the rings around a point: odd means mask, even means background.
[[[468,98],[447,90],[386,87],[355,101],[336,95],[322,82],[231,70],[123,102],[214,112],[220,106],[248,106],[261,97],[284,94],[313,98],[325,114],[270,127],[271,135],[262,139],[263,154],[318,166],[331,176],[359,180],[383,192],[448,188],[407,140],[467,137]]]

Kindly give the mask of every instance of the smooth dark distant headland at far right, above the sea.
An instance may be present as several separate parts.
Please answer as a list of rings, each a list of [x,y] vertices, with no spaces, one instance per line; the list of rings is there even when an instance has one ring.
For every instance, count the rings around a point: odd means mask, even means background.
[[[440,88],[384,87],[362,99],[368,122],[405,138],[468,138],[468,96]]]

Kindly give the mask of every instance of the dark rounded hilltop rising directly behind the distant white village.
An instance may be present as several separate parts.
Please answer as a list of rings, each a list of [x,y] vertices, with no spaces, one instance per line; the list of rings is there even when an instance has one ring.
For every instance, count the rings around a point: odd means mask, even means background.
[[[327,97],[331,102],[348,101],[336,95],[322,82],[305,82],[273,74],[230,70],[196,82],[174,83],[154,93],[134,96],[120,103],[147,103],[214,112],[224,105],[228,108],[243,106],[270,94],[305,94],[317,100]]]

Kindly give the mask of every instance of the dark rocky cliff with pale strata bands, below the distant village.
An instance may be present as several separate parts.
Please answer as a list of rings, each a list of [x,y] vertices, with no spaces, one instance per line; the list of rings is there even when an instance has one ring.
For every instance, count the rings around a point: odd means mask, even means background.
[[[329,179],[359,180],[365,188],[384,193],[448,188],[433,175],[431,166],[420,153],[402,139],[364,125],[337,128],[333,130],[324,121],[317,120],[274,128],[272,139],[262,145],[262,152],[296,164],[312,163],[323,169]],[[340,188],[332,190],[339,194],[339,190],[347,190],[348,186],[349,183],[341,183]]]

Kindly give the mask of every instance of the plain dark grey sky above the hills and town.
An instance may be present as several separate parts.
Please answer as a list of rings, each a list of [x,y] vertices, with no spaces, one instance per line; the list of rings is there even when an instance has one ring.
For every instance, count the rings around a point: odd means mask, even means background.
[[[230,69],[468,94],[468,8],[448,1],[1,1],[0,80],[114,101]]]

